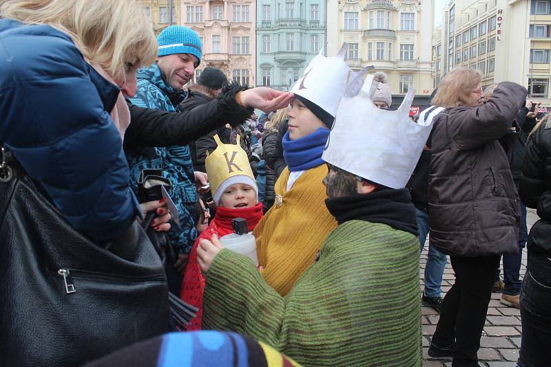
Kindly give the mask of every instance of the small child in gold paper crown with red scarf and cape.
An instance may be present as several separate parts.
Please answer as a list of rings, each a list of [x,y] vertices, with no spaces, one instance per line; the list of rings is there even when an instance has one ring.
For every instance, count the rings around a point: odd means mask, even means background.
[[[252,232],[262,219],[262,203],[258,203],[258,187],[247,153],[239,144],[222,144],[220,137],[214,135],[218,145],[214,152],[208,153],[205,169],[209,175],[212,198],[216,204],[216,214],[206,230],[201,232],[189,254],[185,268],[180,298],[198,307],[196,318],[187,325],[187,330],[200,330],[202,319],[202,292],[205,278],[197,263],[197,246],[202,238],[218,238],[233,233],[231,219],[247,220],[247,229]]]

